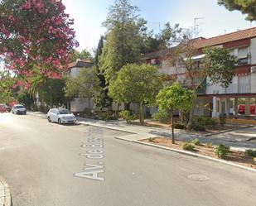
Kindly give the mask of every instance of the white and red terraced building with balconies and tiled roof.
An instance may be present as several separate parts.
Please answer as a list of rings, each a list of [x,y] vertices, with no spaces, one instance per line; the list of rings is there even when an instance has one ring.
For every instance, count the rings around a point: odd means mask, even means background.
[[[197,55],[193,60],[200,64],[204,58],[202,49],[208,46],[220,46],[237,57],[238,64],[234,69],[234,78],[228,88],[205,81],[198,91],[196,115],[219,117],[225,113],[227,117],[256,119],[256,27],[243,31],[235,31],[212,38],[200,37],[196,40]],[[176,69],[170,64],[171,49],[159,50],[145,55],[145,61],[157,65],[160,73],[167,74],[167,79],[174,79],[186,85],[186,69]]]

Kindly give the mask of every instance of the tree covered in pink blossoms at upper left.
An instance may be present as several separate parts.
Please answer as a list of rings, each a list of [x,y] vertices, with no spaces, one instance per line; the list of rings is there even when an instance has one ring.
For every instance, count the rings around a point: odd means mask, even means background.
[[[61,0],[0,1],[0,57],[6,69],[22,77],[26,88],[35,79],[60,79],[79,46],[73,24]]]

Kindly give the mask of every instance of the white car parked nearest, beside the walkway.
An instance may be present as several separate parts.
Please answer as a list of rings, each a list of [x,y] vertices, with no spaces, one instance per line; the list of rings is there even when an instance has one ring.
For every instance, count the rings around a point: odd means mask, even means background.
[[[76,122],[75,115],[66,108],[51,108],[47,113],[47,119],[49,122],[58,122],[59,124]]]

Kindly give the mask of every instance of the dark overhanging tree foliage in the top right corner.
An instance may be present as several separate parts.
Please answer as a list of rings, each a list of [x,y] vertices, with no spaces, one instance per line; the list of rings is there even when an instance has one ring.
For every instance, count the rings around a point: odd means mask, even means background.
[[[249,21],[256,20],[256,1],[255,0],[218,0],[219,5],[224,5],[229,11],[239,10],[247,14]]]

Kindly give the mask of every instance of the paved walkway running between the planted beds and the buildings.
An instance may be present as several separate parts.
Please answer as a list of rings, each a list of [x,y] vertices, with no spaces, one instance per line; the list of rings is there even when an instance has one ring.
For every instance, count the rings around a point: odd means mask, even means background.
[[[28,114],[35,115],[38,117],[46,117],[46,114],[40,112],[28,112]],[[88,118],[77,117],[78,122],[91,125],[94,127],[104,127],[108,129],[114,129],[122,132],[129,132],[130,134],[119,139],[125,141],[138,141],[142,139],[147,139],[149,137],[171,137],[171,131],[165,130],[157,127],[142,127],[138,125],[131,125],[125,121],[102,121],[94,120]],[[239,151],[245,151],[247,149],[256,149],[256,126],[244,128],[239,128],[238,130],[232,132],[224,132],[221,134],[212,135],[210,137],[205,137],[199,133],[186,132],[184,130],[174,130],[176,139],[183,141],[191,141],[195,138],[199,138],[200,142],[212,142],[213,145],[224,144],[230,146],[231,148]],[[255,138],[255,139],[254,139]]]

